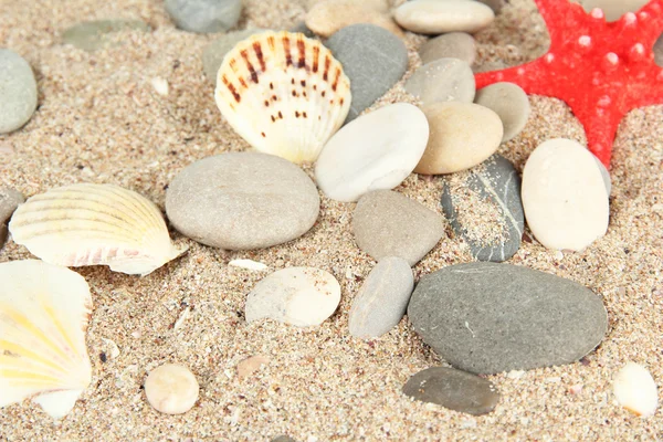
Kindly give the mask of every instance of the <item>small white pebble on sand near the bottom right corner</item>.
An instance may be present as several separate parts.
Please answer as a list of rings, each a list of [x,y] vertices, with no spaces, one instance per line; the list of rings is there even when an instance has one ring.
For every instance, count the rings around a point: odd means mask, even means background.
[[[618,402],[627,410],[646,418],[659,407],[656,383],[646,368],[628,362],[614,377],[613,391]]]

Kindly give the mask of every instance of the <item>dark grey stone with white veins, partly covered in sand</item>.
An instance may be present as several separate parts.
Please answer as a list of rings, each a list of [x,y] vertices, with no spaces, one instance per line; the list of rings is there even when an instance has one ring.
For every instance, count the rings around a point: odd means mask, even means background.
[[[499,155],[446,178],[442,209],[478,261],[506,261],[520,248],[525,229],[520,177]]]

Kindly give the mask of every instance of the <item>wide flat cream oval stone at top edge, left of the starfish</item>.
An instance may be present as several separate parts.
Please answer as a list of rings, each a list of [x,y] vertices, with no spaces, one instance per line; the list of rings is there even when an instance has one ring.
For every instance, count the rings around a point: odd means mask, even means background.
[[[408,31],[442,34],[454,31],[477,32],[493,22],[495,13],[477,1],[417,0],[398,7],[393,17]]]

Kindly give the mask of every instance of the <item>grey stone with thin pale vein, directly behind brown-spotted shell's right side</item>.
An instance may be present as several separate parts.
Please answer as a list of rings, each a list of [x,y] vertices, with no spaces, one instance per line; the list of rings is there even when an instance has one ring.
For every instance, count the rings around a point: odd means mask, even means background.
[[[352,103],[347,122],[387,93],[408,69],[408,49],[391,32],[375,24],[352,24],[332,35],[325,45],[350,78]]]

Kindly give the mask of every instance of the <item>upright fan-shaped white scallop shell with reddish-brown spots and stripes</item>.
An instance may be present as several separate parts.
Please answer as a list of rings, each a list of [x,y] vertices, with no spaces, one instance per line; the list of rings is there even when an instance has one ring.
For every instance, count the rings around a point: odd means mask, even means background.
[[[350,81],[320,42],[263,32],[238,43],[217,76],[217,105],[257,150],[315,161],[350,108]]]

